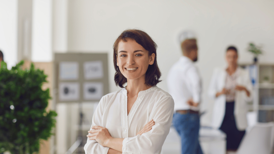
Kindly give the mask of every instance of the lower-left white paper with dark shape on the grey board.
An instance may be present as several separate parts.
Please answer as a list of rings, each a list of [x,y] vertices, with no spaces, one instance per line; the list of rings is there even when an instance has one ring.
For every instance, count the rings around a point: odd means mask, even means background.
[[[59,83],[59,100],[60,101],[77,101],[80,96],[78,82],[61,82]]]

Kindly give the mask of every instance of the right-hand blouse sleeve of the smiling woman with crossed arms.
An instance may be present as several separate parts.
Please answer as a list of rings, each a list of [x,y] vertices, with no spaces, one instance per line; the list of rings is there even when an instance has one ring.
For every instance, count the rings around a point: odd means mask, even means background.
[[[152,129],[142,135],[125,138],[123,141],[123,154],[160,153],[166,136],[169,133],[174,111],[174,100],[171,96],[159,96],[150,114],[154,119]]]

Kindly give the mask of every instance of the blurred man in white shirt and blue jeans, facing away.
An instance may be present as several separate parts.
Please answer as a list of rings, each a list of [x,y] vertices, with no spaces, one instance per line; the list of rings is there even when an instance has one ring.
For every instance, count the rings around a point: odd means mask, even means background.
[[[183,56],[170,69],[169,93],[174,99],[173,125],[181,137],[182,154],[202,154],[198,140],[202,82],[194,62],[198,60],[196,37],[191,31],[179,35]]]

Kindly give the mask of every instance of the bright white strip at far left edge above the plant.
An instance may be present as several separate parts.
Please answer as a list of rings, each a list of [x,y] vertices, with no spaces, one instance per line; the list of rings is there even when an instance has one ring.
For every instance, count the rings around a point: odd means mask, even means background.
[[[0,0],[0,50],[10,69],[17,63],[17,0]]]

